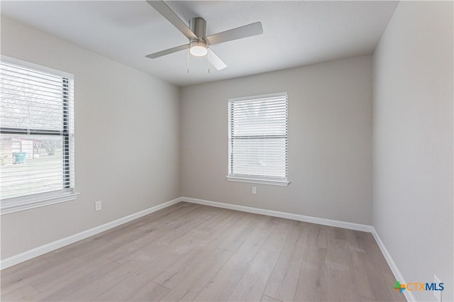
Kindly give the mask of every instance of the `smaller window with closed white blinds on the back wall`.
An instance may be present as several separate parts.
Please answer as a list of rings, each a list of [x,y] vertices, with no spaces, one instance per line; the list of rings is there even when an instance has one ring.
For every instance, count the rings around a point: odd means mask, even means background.
[[[287,94],[228,101],[228,180],[287,186]]]

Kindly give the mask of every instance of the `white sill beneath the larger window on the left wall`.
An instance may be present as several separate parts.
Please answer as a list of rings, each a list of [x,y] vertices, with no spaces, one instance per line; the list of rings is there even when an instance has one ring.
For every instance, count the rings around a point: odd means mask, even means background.
[[[62,203],[66,201],[73,201],[79,196],[79,193],[60,193],[52,196],[28,197],[28,198],[11,198],[11,200],[4,200],[1,202],[0,215],[14,213],[18,211],[26,211],[31,208],[39,208],[41,206],[49,206],[54,203]],[[9,201],[9,202],[8,202]]]

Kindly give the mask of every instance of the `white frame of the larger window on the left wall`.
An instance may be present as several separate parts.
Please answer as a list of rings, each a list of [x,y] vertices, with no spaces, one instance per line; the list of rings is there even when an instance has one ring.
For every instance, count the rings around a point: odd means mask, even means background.
[[[62,136],[63,140],[63,162],[62,162],[62,177],[63,184],[66,185],[57,191],[50,191],[38,194],[28,194],[26,196],[18,196],[11,198],[4,198],[0,200],[0,215],[14,213],[18,211],[25,211],[31,208],[38,208],[41,206],[48,206],[54,203],[61,203],[65,201],[73,201],[79,196],[79,193],[75,191],[75,172],[74,167],[71,169],[71,156],[74,157],[74,113],[70,115],[70,109],[74,106],[70,106],[72,101],[74,104],[74,98],[71,99],[72,84],[74,84],[74,76],[67,72],[62,72],[57,69],[44,67],[31,62],[18,60],[13,57],[1,55],[0,60],[2,62],[26,67],[29,69],[35,69],[40,72],[46,72],[54,74],[58,77],[62,77],[62,113],[63,113],[63,126],[62,130],[40,130],[40,129],[23,129],[23,128],[0,128],[0,135],[3,134],[22,134],[22,135],[58,135]],[[72,116],[72,120],[70,120]],[[70,126],[72,125],[72,128]],[[72,140],[70,138],[72,135]],[[72,145],[71,145],[72,142]],[[67,152],[65,152],[67,151]],[[72,151],[72,152],[71,152]],[[73,159],[74,160],[74,159]],[[65,173],[68,172],[68,173]]]

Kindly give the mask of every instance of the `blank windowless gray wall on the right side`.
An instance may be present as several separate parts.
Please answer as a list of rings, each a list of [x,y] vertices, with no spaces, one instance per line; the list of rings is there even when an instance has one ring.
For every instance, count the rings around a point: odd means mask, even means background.
[[[374,55],[373,223],[406,281],[436,274],[443,301],[454,300],[453,97],[453,2],[400,2]]]

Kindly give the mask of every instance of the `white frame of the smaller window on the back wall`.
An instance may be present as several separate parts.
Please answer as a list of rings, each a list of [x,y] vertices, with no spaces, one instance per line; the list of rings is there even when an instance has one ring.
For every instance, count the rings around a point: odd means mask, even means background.
[[[232,162],[232,149],[233,149],[233,138],[231,134],[231,117],[232,117],[232,108],[230,106],[231,103],[235,101],[254,101],[257,99],[267,99],[273,97],[285,97],[286,99],[286,129],[285,135],[262,135],[262,138],[285,138],[285,177],[267,177],[267,176],[253,176],[253,175],[246,175],[246,174],[233,174],[233,162]],[[228,181],[239,181],[239,182],[247,182],[252,184],[271,184],[275,186],[288,186],[290,182],[288,181],[288,94],[287,92],[281,92],[276,94],[262,94],[258,96],[245,96],[240,98],[228,99],[228,174],[226,179]],[[254,135],[251,135],[251,138]],[[255,136],[254,136],[255,137]]]

